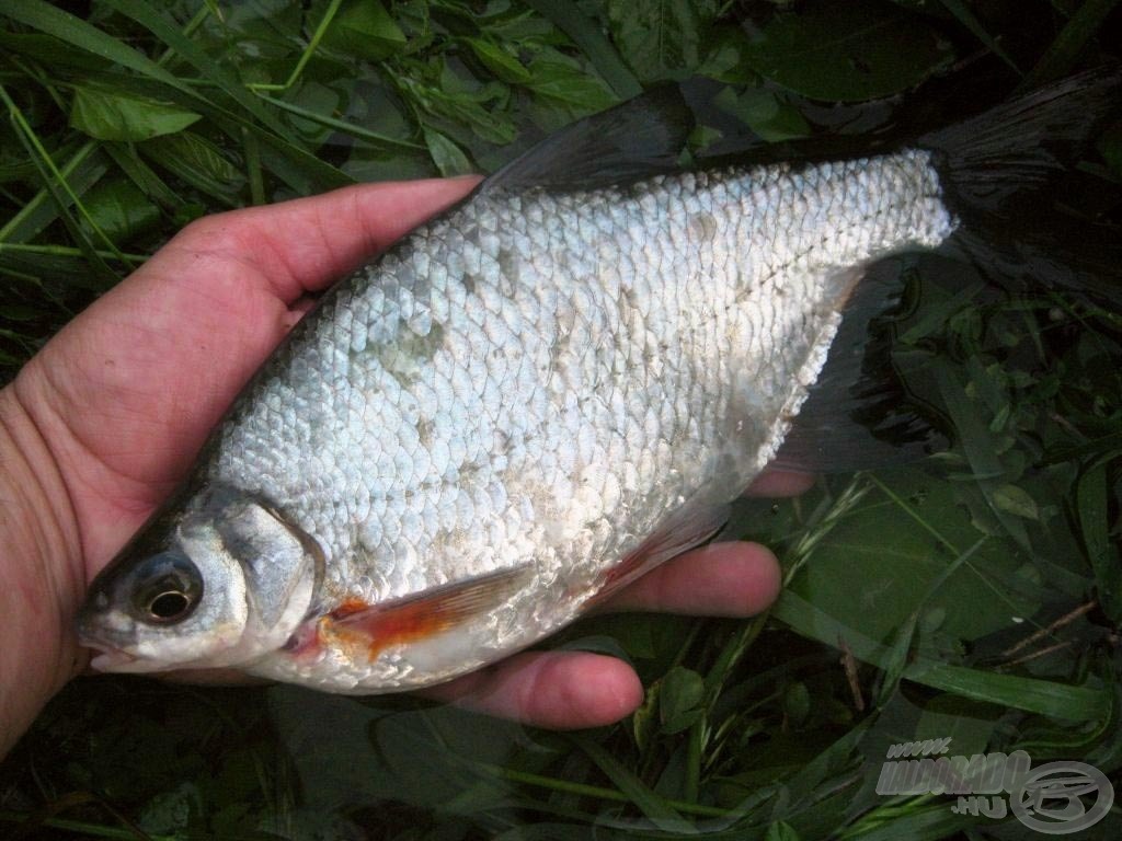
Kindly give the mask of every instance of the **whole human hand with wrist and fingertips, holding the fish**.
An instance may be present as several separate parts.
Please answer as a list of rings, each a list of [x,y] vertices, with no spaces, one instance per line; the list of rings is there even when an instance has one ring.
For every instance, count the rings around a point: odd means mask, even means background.
[[[471,178],[349,187],[194,222],[55,336],[0,392],[0,754],[85,665],[74,612],[85,585],[184,477],[310,294],[471,190]],[[10,453],[10,455],[9,455]],[[794,493],[807,479],[755,486]],[[779,567],[721,544],[677,558],[605,609],[745,616]],[[33,632],[34,629],[34,632]],[[527,653],[431,694],[554,728],[615,721],[642,701],[629,666]]]

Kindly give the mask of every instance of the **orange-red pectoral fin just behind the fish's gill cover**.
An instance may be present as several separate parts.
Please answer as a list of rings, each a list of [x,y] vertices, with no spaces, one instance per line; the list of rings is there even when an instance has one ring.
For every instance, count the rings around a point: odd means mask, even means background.
[[[349,600],[320,618],[318,636],[362,645],[374,659],[389,646],[435,636],[497,608],[528,572],[527,566],[499,570],[377,604]]]

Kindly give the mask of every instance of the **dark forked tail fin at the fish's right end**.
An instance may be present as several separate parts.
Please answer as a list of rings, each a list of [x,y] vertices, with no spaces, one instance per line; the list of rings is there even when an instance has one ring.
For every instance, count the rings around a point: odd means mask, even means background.
[[[951,244],[1003,281],[1028,275],[1122,303],[1118,232],[1056,206],[1065,197],[1058,183],[1119,108],[1120,92],[1122,68],[1111,66],[920,138],[962,221]]]

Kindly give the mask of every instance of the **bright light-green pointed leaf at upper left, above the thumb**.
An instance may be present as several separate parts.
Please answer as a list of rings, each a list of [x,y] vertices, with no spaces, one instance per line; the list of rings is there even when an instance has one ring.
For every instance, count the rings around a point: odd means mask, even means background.
[[[149,140],[174,135],[202,114],[119,91],[77,85],[70,124],[98,140]]]

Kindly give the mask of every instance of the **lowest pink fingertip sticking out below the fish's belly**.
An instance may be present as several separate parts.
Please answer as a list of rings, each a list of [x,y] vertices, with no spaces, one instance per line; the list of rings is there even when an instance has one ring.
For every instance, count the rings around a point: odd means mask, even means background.
[[[420,694],[524,724],[574,730],[629,715],[643,702],[643,684],[615,657],[528,651]]]

